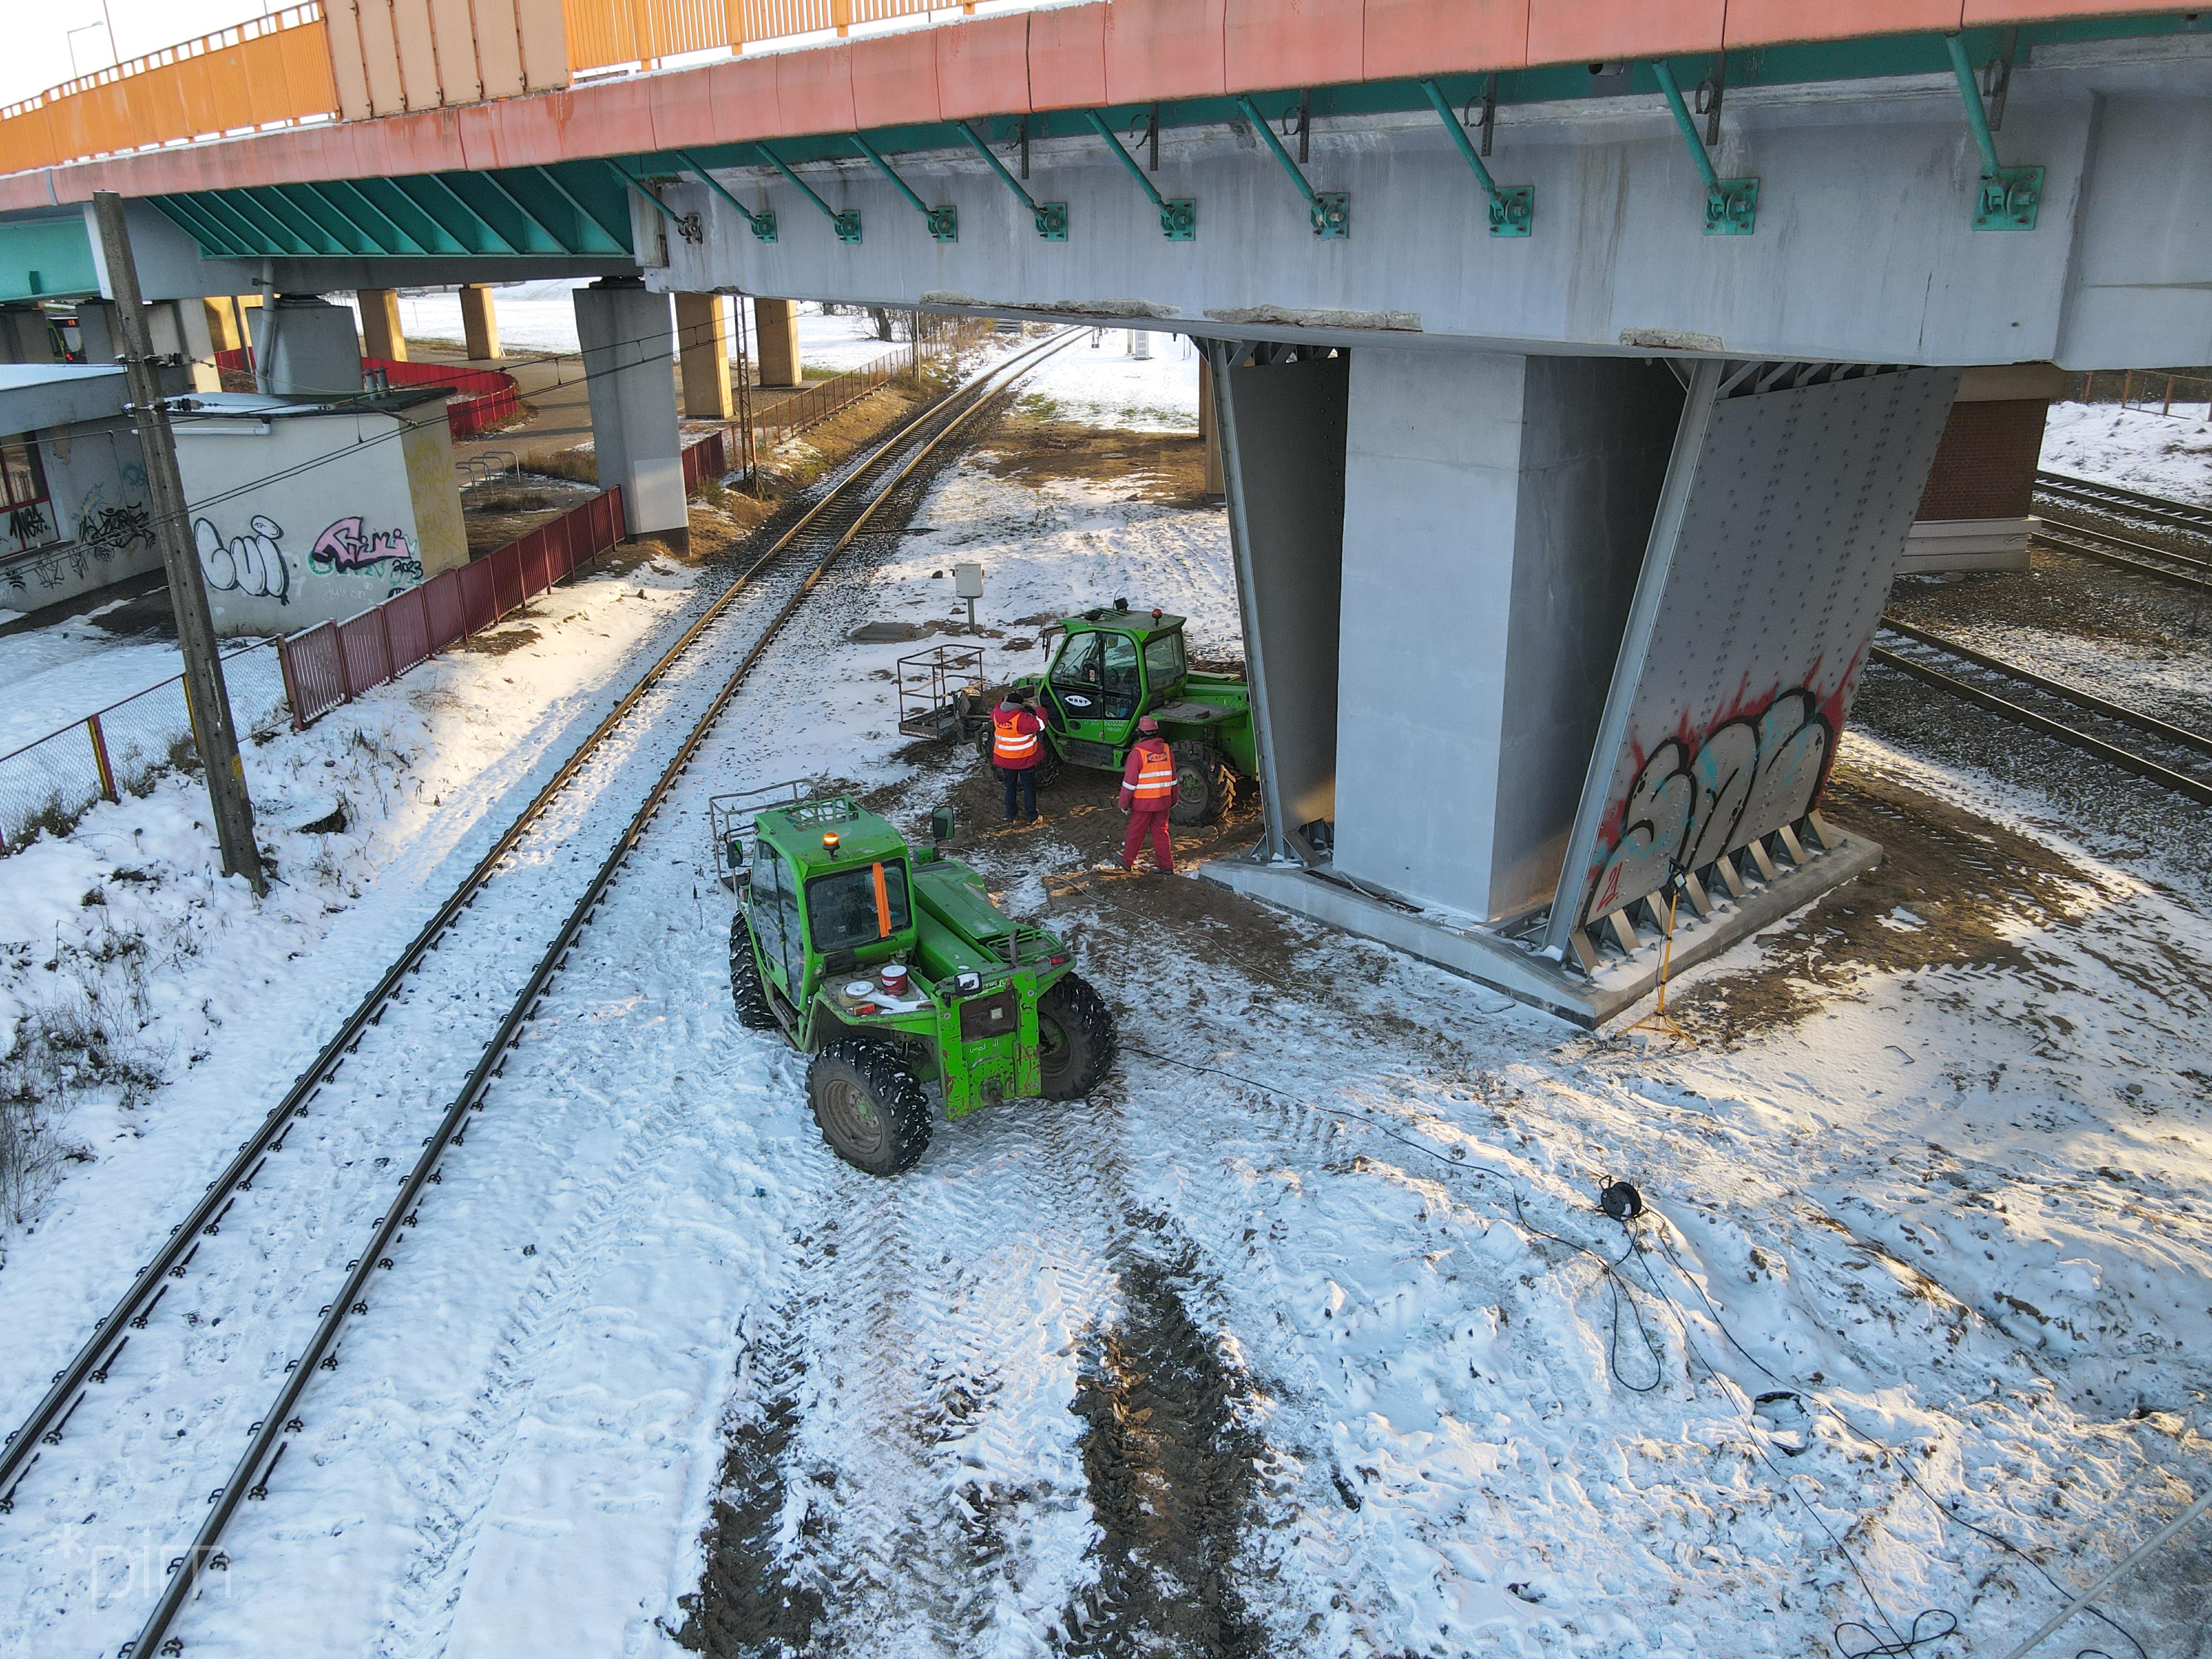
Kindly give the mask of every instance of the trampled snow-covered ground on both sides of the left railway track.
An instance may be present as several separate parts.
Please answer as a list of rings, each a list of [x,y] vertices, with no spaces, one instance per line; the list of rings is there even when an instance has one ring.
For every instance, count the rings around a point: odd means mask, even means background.
[[[1033,392],[1148,422],[1186,385],[1172,352],[1079,343]],[[1117,593],[1188,613],[1199,653],[1237,639],[1219,513],[987,456],[827,582],[447,1159],[188,1652],[597,1659],[688,1630],[885,1659],[1763,1659],[1867,1652],[1929,1608],[1960,1635],[1920,1652],[1955,1659],[2002,1655],[2062,1606],[2053,1579],[2212,1480],[2203,891],[1851,737],[1867,787],[2048,860],[2068,902],[2004,922],[2020,958],[1845,973],[1701,1048],[1575,1035],[1210,885],[1095,869],[1106,785],[998,834],[964,757],[896,732],[889,668],[918,646],[847,639],[964,615],[936,575],[956,557],[987,568],[993,670],[1035,666],[1013,644],[1033,617]],[[170,1051],[128,1106],[75,1102],[93,1157],[7,1239],[13,1416],[684,599],[646,573],[584,586],[540,639],[254,752],[257,792],[361,812],[276,838],[292,885],[259,922],[210,880],[181,785],[0,860],[9,995],[51,984],[49,956],[97,975],[113,920],[155,940],[146,1046]],[[872,790],[909,830],[960,799],[962,856],[1115,1004],[1106,1086],[940,1124],[891,1183],[838,1164],[803,1064],[734,1022],[706,865],[706,796],[785,776]],[[1681,987],[1725,1011],[1783,940]],[[389,1115],[405,1164],[451,1084],[425,1064],[363,1102],[345,1155]],[[1652,1203],[1632,1225],[1595,1208],[1617,1177]],[[349,1237],[241,1221],[243,1265],[173,1292],[179,1378],[228,1416],[285,1356],[217,1321],[307,1259],[312,1307]],[[126,1455],[64,1475],[64,1444],[0,1526],[0,1646],[113,1652],[228,1473],[234,1433],[124,1371],[100,1409],[142,1418]],[[2203,1655],[2208,1579],[2181,1540],[2106,1606],[2146,1652]]]

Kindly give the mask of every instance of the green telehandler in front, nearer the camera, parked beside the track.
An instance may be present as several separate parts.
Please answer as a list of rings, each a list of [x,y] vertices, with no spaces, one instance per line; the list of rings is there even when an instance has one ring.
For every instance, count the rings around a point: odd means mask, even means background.
[[[898,1175],[936,1110],[1077,1099],[1115,1057],[1113,1011],[1051,933],[1002,914],[982,876],[849,796],[801,783],[708,805],[714,874],[737,894],[730,995],[750,1031],[781,1031],[807,1064],[830,1148]]]

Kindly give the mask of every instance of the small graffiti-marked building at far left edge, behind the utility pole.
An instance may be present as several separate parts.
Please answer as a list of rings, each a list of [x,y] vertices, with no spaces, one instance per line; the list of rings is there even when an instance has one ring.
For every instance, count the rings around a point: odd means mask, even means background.
[[[113,365],[0,363],[0,606],[42,611],[161,564]]]

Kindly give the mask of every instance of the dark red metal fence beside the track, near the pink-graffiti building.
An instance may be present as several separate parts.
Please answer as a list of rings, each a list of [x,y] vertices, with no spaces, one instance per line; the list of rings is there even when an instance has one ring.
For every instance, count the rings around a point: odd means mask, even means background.
[[[719,447],[721,440],[710,442]],[[692,445],[692,449],[703,447]],[[690,451],[684,462],[690,476]],[[615,546],[622,526],[617,487],[540,524],[498,553],[394,593],[358,617],[325,622],[283,639],[279,653],[292,730],[303,730],[338,703],[398,679],[416,664],[518,611],[580,564]]]

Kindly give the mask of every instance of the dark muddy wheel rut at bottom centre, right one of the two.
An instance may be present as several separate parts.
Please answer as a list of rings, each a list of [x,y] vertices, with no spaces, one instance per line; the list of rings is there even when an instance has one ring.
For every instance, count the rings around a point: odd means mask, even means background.
[[[1261,1436],[1243,1378],[1177,1287],[1190,1256],[1121,1267],[1121,1321],[1086,1356],[1073,1411],[1102,1540],[1099,1577],[1062,1615],[1064,1655],[1263,1655],[1234,1584]]]

